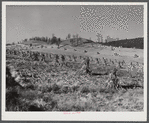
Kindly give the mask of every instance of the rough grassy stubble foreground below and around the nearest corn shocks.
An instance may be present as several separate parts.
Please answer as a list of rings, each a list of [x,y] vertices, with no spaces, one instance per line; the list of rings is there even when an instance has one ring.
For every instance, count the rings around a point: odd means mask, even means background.
[[[7,57],[6,65],[17,71],[12,75],[8,69],[6,73],[6,111],[143,111],[143,88],[113,90],[106,86],[108,75],[76,74],[81,67],[78,63],[54,67],[51,63]],[[112,69],[91,67],[100,72]],[[125,84],[144,82],[142,73],[131,78],[122,69],[118,77]]]

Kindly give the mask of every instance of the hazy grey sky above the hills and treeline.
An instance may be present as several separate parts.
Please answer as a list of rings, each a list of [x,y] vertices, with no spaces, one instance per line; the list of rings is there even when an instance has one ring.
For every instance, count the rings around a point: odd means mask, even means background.
[[[65,39],[68,33],[97,41],[97,34],[119,39],[143,37],[143,5],[7,5],[6,40]]]

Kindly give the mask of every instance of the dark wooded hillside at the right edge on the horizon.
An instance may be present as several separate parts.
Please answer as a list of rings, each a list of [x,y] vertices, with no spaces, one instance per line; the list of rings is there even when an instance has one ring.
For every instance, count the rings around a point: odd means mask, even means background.
[[[143,49],[144,38],[134,38],[134,39],[125,39],[119,41],[111,41],[107,43],[102,43],[102,45],[106,46],[114,46],[114,47],[125,47],[125,48],[137,48]]]

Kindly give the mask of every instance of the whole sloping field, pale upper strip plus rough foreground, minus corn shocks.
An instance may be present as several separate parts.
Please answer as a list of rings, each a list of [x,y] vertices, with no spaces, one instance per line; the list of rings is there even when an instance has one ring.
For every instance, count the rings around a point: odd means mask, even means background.
[[[111,50],[110,47],[97,44],[92,46],[90,43],[79,47],[65,45],[59,49],[56,45],[45,46],[26,47],[29,47],[27,50],[32,51],[70,55],[71,58],[72,55],[86,55],[93,58],[114,59],[114,61],[117,59],[143,63],[141,49]],[[6,53],[6,111],[138,112],[144,110],[142,68],[130,69],[127,64],[117,67],[116,61],[110,65],[91,61],[92,73],[88,74],[82,71],[81,58],[79,62],[67,58],[62,62],[59,59],[59,63],[56,64],[55,57],[46,57],[47,59],[42,60],[35,59],[35,55],[25,55],[25,52],[16,54],[17,52],[10,50]],[[135,54],[139,57],[135,58]],[[110,72],[114,68],[118,69],[117,89],[113,88],[111,79],[109,80]]]

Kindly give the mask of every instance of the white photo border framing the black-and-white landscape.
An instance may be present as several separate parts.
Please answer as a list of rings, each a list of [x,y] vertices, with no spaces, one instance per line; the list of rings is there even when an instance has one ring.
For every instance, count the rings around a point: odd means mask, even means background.
[[[143,112],[6,112],[6,5],[143,5],[144,111]],[[147,121],[147,2],[2,2],[2,120],[15,121]]]

